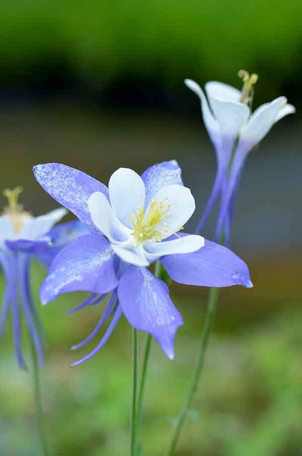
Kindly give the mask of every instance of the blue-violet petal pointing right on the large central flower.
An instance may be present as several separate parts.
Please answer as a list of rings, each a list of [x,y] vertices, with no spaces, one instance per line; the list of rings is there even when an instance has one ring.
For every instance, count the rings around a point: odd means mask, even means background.
[[[205,240],[204,247],[196,252],[165,256],[161,262],[173,280],[186,285],[253,286],[246,263],[231,250],[211,241]]]

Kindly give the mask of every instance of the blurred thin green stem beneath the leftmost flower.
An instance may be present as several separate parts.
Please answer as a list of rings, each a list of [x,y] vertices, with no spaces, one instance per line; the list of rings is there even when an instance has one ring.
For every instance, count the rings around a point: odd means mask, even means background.
[[[33,390],[34,390],[36,418],[37,418],[38,431],[39,431],[39,437],[40,437],[41,451],[42,451],[43,456],[50,456],[50,452],[49,452],[48,445],[47,445],[43,408],[42,408],[42,398],[41,398],[40,378],[39,378],[39,364],[38,364],[35,346],[34,346],[34,343],[32,340],[30,340],[30,352],[31,352],[31,358],[32,358]]]

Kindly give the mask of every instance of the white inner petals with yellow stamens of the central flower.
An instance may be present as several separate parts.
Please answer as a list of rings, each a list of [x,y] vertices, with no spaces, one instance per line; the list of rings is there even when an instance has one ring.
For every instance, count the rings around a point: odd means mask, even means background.
[[[176,235],[195,210],[188,188],[167,185],[146,198],[141,177],[120,168],[110,178],[109,198],[110,203],[104,193],[96,192],[89,198],[88,208],[111,249],[127,263],[148,266],[163,255],[190,253],[203,247],[201,236]],[[172,235],[176,239],[162,242]]]

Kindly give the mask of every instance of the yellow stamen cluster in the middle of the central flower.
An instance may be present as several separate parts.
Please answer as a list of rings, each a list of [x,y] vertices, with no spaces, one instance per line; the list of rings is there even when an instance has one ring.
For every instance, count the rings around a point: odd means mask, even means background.
[[[144,213],[143,204],[134,209],[130,221],[133,225],[132,236],[135,240],[135,247],[144,244],[147,240],[160,242],[167,237],[170,230],[168,230],[168,223],[165,220],[169,218],[170,207],[171,203],[168,198],[161,202],[153,198],[146,213]]]

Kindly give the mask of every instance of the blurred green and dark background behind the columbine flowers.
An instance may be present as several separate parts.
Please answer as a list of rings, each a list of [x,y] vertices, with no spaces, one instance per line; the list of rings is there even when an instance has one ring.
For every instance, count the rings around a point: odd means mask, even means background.
[[[245,68],[259,74],[255,107],[279,95],[297,107],[245,168],[232,247],[248,263],[254,288],[221,292],[196,413],[178,454],[302,455],[301,2],[3,0],[0,68],[1,186],[22,185],[26,209],[35,214],[56,207],[32,177],[37,163],[65,163],[107,183],[121,166],[142,172],[177,159],[197,203],[193,229],[214,179],[215,157],[199,102],[183,79],[240,88],[237,72]],[[215,214],[205,227],[209,239],[214,223]],[[43,277],[34,264],[35,300],[48,339],[42,381],[52,456],[125,454],[129,326],[121,321],[95,358],[70,369],[95,346],[69,351],[90,333],[102,306],[66,315],[84,298],[71,294],[40,309]],[[185,325],[173,363],[154,343],[145,456],[165,454],[195,362],[207,293],[171,287]],[[10,327],[0,353],[0,455],[38,456],[31,376],[17,368]]]

